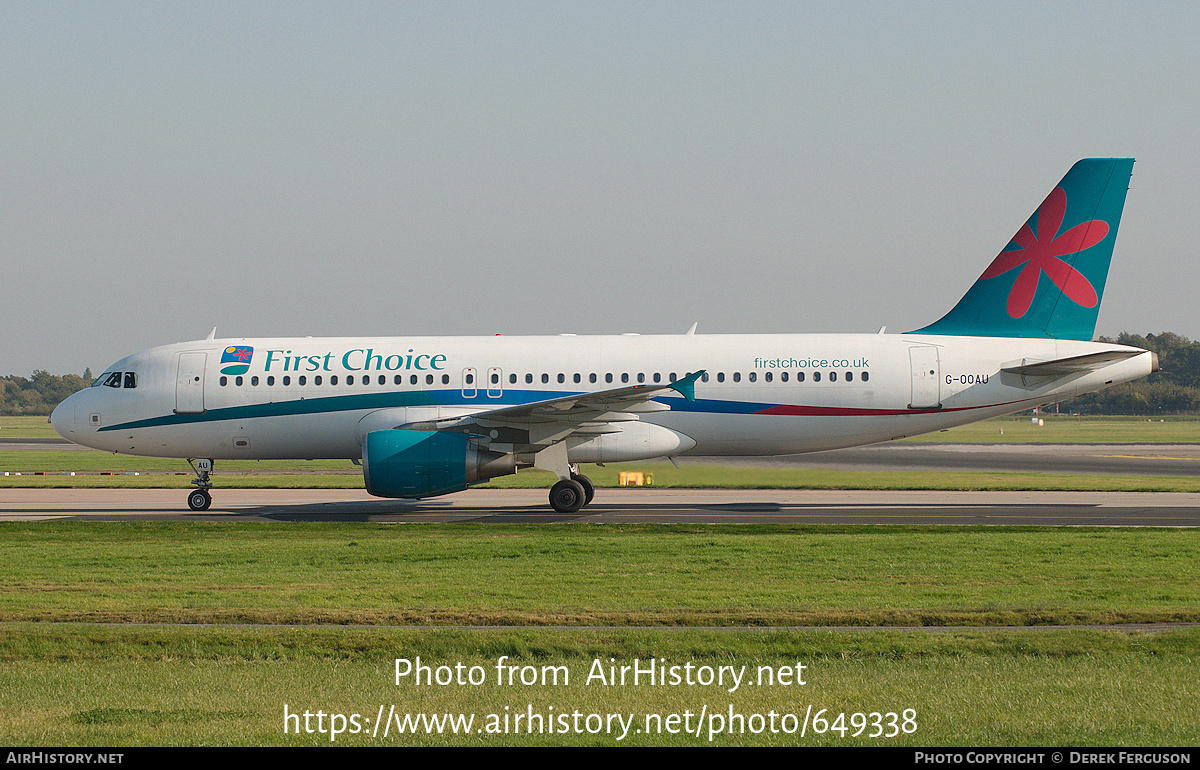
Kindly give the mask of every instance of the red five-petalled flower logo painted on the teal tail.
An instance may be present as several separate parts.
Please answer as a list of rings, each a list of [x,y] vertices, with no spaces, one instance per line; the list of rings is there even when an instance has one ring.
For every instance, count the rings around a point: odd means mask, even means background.
[[[1067,193],[1062,191],[1062,187],[1055,187],[1054,192],[1042,203],[1042,207],[1038,209],[1037,234],[1030,229],[1030,224],[1026,222],[1013,236],[1013,242],[1021,248],[1001,252],[979,276],[980,278],[995,278],[1014,267],[1025,265],[1021,273],[1016,276],[1013,289],[1008,293],[1008,314],[1013,318],[1021,318],[1030,311],[1043,272],[1050,276],[1055,285],[1062,289],[1062,293],[1076,305],[1096,307],[1099,302],[1096,289],[1084,277],[1084,273],[1058,258],[1091,248],[1103,241],[1104,236],[1109,234],[1109,223],[1103,219],[1091,219],[1058,235],[1058,228],[1062,227],[1062,218],[1066,213]]]

